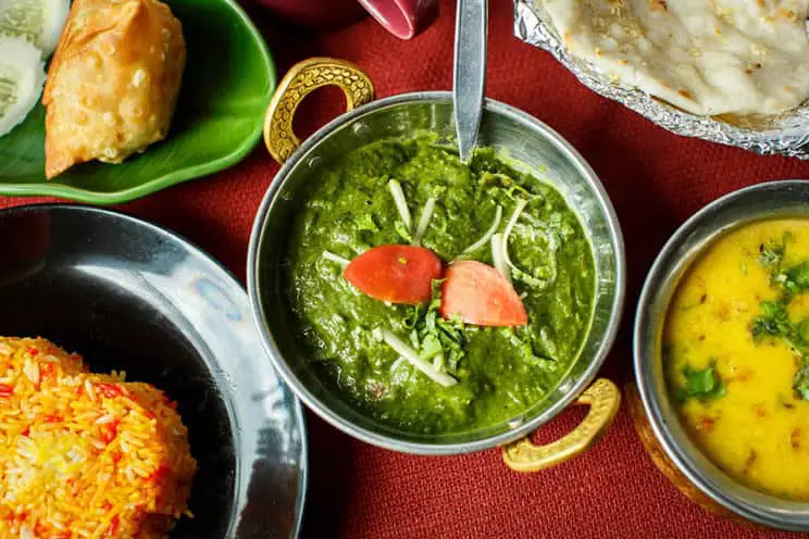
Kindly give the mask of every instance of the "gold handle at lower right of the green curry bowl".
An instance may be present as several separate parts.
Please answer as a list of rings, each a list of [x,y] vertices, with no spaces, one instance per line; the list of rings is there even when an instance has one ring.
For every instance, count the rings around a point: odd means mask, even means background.
[[[621,408],[621,391],[606,378],[597,379],[573,405],[589,405],[582,423],[562,438],[537,446],[531,436],[506,444],[502,460],[515,472],[538,472],[577,456],[607,433]]]

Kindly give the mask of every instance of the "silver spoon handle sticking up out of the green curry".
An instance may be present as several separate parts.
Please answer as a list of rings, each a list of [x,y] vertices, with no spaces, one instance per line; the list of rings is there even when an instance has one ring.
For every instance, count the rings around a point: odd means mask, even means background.
[[[477,141],[486,90],[488,0],[458,0],[452,102],[458,152],[466,163]]]

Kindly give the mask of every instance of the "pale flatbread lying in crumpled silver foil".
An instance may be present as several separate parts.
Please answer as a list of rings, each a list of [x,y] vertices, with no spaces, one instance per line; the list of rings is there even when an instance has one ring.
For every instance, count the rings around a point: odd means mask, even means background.
[[[536,0],[571,54],[700,115],[809,98],[809,0]]]

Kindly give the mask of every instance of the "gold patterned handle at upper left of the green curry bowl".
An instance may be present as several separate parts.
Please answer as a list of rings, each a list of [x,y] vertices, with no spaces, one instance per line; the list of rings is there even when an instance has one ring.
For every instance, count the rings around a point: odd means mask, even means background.
[[[264,116],[264,145],[284,163],[301,141],[293,131],[293,120],[301,101],[318,88],[337,86],[346,95],[350,111],[374,99],[374,85],[357,65],[333,58],[310,58],[295,64],[275,90]]]

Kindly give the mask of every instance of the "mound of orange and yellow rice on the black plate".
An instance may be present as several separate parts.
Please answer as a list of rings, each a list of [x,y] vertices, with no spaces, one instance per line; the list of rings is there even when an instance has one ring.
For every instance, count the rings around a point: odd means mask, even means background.
[[[0,338],[0,538],[165,538],[196,468],[162,391]]]

